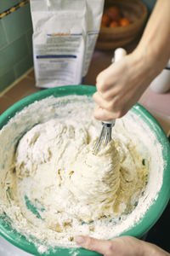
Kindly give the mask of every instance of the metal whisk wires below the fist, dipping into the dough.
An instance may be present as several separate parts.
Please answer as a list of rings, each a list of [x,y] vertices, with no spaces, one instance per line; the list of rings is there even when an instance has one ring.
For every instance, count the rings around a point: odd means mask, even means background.
[[[112,127],[115,125],[115,120],[111,120],[111,122],[102,122],[102,125],[103,127],[99,139],[94,144],[94,154],[97,154],[101,147],[105,147],[111,142],[111,131]]]

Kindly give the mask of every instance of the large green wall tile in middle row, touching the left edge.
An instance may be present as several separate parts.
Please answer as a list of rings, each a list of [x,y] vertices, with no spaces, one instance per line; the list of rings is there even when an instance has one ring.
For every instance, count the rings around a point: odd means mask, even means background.
[[[26,35],[15,40],[0,51],[0,76],[7,73],[16,63],[29,55]]]

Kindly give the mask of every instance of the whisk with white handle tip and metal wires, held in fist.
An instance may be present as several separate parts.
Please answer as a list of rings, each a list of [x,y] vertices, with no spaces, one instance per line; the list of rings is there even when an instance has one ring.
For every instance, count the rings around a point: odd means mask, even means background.
[[[111,62],[120,61],[127,52],[125,49],[117,48],[114,53],[114,57],[112,58]],[[100,132],[99,138],[97,142],[94,144],[94,154],[99,152],[99,149],[105,147],[108,143],[111,142],[111,131],[112,127],[115,125],[116,119],[112,119],[110,121],[102,121],[102,130]]]

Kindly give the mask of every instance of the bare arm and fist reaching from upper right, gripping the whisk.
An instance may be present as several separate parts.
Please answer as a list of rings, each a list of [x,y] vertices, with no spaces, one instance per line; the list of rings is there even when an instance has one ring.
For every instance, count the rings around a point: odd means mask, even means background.
[[[94,93],[96,119],[122,117],[166,67],[170,58],[169,9],[169,0],[157,0],[137,48],[99,73]]]

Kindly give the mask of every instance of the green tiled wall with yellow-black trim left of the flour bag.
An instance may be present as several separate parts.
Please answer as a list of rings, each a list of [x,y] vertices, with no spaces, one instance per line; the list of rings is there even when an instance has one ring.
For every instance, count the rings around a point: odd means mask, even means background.
[[[22,0],[0,0],[0,14]],[[0,93],[32,67],[30,3],[0,20]]]

